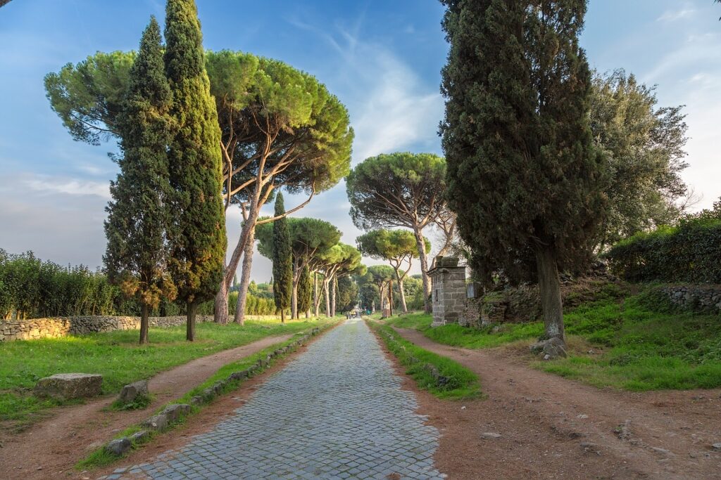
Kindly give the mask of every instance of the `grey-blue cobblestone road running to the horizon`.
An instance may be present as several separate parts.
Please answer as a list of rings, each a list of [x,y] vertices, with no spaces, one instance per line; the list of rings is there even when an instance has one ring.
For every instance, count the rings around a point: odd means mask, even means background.
[[[362,320],[348,320],[270,377],[236,415],[111,479],[440,479],[438,430]],[[391,477],[393,478],[393,477]]]

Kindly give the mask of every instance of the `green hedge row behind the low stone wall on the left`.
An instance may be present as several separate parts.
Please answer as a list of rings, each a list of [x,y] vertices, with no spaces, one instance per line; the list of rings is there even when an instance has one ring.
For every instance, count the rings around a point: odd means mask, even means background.
[[[235,314],[237,292],[231,292],[229,307]],[[0,319],[11,312],[24,318],[74,317],[79,315],[140,315],[140,304],[128,299],[99,271],[86,266],[61,266],[42,261],[32,252],[12,255],[0,248]],[[275,314],[273,299],[248,294],[249,315]],[[213,314],[213,301],[205,302],[199,314]],[[152,316],[185,314],[185,305],[161,302]]]

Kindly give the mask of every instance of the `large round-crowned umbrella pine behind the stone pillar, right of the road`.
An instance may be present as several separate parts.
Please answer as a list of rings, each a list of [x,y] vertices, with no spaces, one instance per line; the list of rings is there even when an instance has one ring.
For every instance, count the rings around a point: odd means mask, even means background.
[[[446,162],[430,153],[390,153],[366,158],[346,178],[350,217],[363,230],[405,227],[415,235],[423,273],[425,311],[430,279],[423,229],[445,207]]]

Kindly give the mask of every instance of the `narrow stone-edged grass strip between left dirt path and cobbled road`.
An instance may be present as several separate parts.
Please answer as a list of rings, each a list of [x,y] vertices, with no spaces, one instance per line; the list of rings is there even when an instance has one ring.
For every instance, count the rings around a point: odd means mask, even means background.
[[[314,325],[320,328],[321,332],[324,330],[327,330],[329,327],[332,327],[337,322],[328,320],[325,322],[319,323],[319,325]],[[172,402],[168,402],[167,404],[164,404],[162,407],[159,407],[156,410],[156,413],[162,412],[162,410],[167,407],[169,404],[190,404],[190,414],[188,415],[194,415],[195,413],[200,412],[203,407],[205,407],[206,404],[213,402],[213,399],[216,397],[219,397],[221,395],[227,394],[231,391],[234,391],[238,389],[239,386],[243,383],[244,380],[242,379],[236,379],[231,380],[229,379],[229,376],[231,373],[239,372],[239,371],[245,371],[249,368],[252,368],[254,366],[257,366],[259,364],[259,361],[266,361],[267,358],[269,358],[270,354],[275,352],[276,350],[279,350],[281,348],[288,347],[288,350],[286,354],[274,356],[272,360],[268,361],[268,363],[263,363],[265,365],[261,368],[255,368],[253,370],[252,376],[255,376],[262,371],[264,371],[266,368],[269,368],[275,361],[278,361],[279,358],[282,358],[283,356],[287,355],[288,353],[293,352],[296,350],[296,341],[301,338],[303,333],[296,333],[296,335],[293,335],[293,338],[286,340],[285,342],[279,342],[275,345],[271,345],[268,348],[265,348],[263,350],[260,350],[257,353],[254,353],[251,356],[247,356],[244,358],[241,358],[237,361],[227,363],[226,365],[222,366],[221,368],[216,371],[216,373],[213,373],[212,376],[208,377],[202,384],[195,386],[195,388],[191,389],[190,391],[187,391],[182,397],[179,397],[178,399],[175,399]],[[212,387],[218,382],[222,382],[223,386],[218,391],[216,395],[213,396],[212,399],[207,399],[205,402],[201,404],[193,404],[190,399],[192,399],[195,396],[203,396],[203,391],[205,389],[208,389],[209,387]],[[149,413],[148,415],[151,417],[152,415]],[[141,430],[146,430],[148,432],[148,435],[146,435],[143,440],[140,441],[133,441],[132,442],[132,449],[141,448],[143,445],[146,445],[150,443],[154,438],[156,438],[159,435],[162,435],[164,433],[167,433],[169,430],[172,430],[174,427],[177,427],[179,425],[182,425],[185,423],[185,420],[187,417],[182,417],[180,420],[177,420],[176,422],[169,425],[167,430],[164,430],[162,433],[155,432],[152,430],[147,430],[146,427],[143,427],[143,425],[131,425],[130,427],[126,428],[122,432],[118,433],[118,435],[115,435],[115,438],[123,438],[123,437],[130,437],[134,433],[138,433]],[[127,454],[125,455],[127,456]],[[91,470],[93,468],[102,468],[104,466],[108,466],[115,461],[120,460],[120,458],[124,458],[125,456],[115,456],[111,453],[108,453],[107,450],[105,450],[105,446],[101,448],[97,448],[96,450],[92,451],[92,453],[89,453],[88,456],[81,459],[78,463],[76,463],[75,468],[79,470]]]

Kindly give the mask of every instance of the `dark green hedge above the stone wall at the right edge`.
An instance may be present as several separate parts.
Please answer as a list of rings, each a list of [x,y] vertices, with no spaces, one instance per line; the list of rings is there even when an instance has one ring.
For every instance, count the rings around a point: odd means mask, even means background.
[[[639,233],[604,256],[611,271],[627,281],[721,284],[721,219],[691,219]]]

